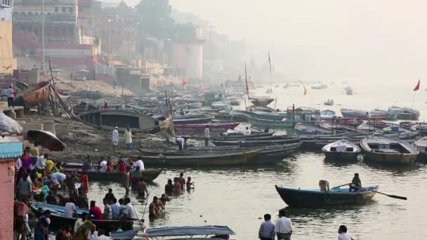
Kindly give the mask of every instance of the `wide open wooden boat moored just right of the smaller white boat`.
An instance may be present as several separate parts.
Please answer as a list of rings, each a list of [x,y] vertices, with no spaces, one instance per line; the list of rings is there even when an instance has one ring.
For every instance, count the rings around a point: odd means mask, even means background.
[[[374,134],[360,141],[364,159],[383,164],[412,164],[418,150],[402,140]]]

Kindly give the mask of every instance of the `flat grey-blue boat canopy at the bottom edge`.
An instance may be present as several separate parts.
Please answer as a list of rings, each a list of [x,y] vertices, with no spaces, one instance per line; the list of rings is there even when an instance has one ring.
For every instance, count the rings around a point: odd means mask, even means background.
[[[195,236],[195,235],[234,235],[227,226],[185,226],[185,227],[153,227],[147,229],[147,236]]]

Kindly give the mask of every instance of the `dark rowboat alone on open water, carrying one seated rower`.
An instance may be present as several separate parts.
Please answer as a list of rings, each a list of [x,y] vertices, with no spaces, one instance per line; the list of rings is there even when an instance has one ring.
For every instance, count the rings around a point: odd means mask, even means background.
[[[316,208],[324,206],[341,206],[365,204],[372,201],[379,186],[363,187],[360,192],[349,192],[348,188],[294,189],[275,185],[277,193],[290,207]]]

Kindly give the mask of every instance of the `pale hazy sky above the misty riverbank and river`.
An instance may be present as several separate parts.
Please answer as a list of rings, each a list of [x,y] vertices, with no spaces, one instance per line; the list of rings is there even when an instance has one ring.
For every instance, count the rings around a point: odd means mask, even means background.
[[[111,0],[113,1],[113,0]],[[128,1],[126,1],[128,2]],[[129,4],[135,4],[136,1]],[[427,1],[170,0],[270,50],[289,78],[427,79]]]

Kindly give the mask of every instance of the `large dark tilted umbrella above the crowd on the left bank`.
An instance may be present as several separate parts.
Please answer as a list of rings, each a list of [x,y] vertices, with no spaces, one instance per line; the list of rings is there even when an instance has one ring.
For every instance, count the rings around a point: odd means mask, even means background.
[[[60,152],[65,149],[65,144],[56,136],[48,131],[29,130],[27,131],[27,140],[41,145],[53,152]]]

